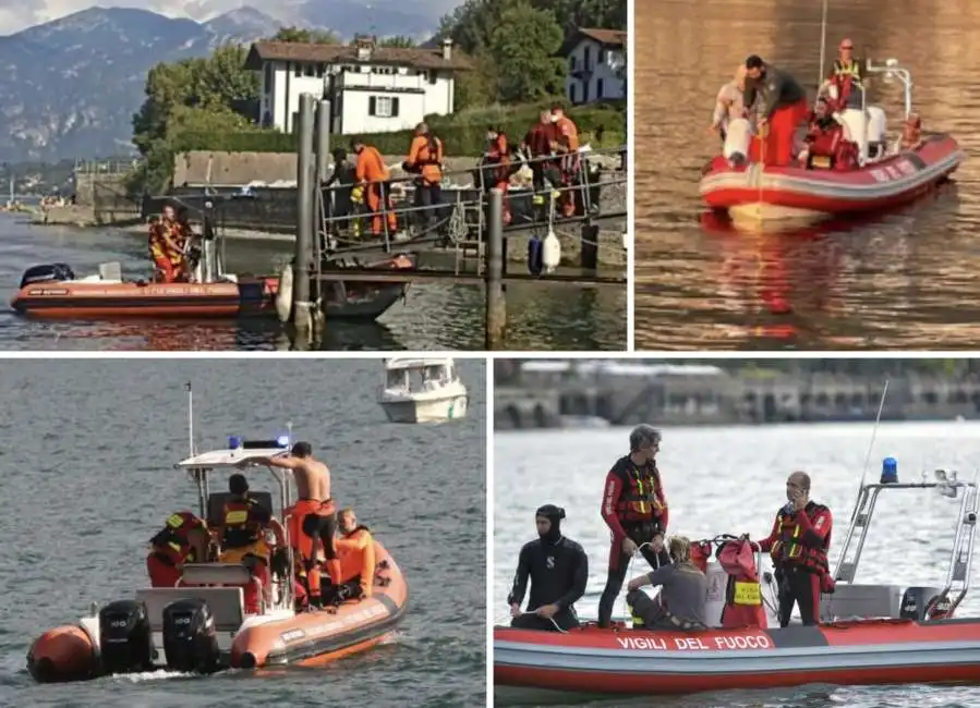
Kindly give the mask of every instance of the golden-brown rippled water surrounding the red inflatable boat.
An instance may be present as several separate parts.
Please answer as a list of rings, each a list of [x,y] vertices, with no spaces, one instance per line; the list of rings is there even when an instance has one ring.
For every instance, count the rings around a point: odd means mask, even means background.
[[[923,127],[980,148],[980,4],[831,0],[827,65],[839,40],[898,58]],[[980,160],[902,211],[860,223],[747,234],[702,217],[700,169],[714,97],[747,54],[815,89],[821,2],[637,3],[637,347],[973,349],[980,341]],[[897,127],[902,89],[872,100]]]

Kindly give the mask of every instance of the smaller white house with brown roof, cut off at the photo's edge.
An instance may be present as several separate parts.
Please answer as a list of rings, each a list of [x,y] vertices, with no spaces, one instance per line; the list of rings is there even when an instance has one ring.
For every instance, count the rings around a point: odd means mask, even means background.
[[[626,99],[626,33],[579,27],[562,45],[565,95],[571,103]]]

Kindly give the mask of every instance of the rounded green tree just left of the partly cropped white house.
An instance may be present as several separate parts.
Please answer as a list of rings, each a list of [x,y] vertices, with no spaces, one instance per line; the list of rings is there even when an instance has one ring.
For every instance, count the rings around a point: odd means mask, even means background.
[[[562,36],[555,17],[529,0],[506,5],[487,47],[496,68],[497,99],[525,102],[562,93],[565,62],[556,57]]]

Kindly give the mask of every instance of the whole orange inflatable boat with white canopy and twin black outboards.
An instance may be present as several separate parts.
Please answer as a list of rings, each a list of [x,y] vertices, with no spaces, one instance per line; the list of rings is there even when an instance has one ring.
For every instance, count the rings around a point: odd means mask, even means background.
[[[193,430],[193,428],[192,428]],[[193,439],[193,435],[192,435]],[[288,436],[271,441],[232,439],[227,449],[194,454],[178,463],[197,486],[201,517],[220,524],[228,493],[209,492],[210,473],[233,473],[242,461],[288,452]],[[231,442],[231,441],[230,441]],[[285,664],[317,666],[371,648],[390,637],[404,618],[409,590],[391,554],[375,541],[374,588],[368,598],[324,609],[295,610],[294,567],[286,513],[291,473],[267,467],[278,483],[278,517],[289,553],[286,576],[271,575],[262,588],[240,563],[189,563],[174,587],[136,590],[92,612],[77,624],[49,630],[27,652],[27,669],[40,683],[83,681],[108,674],[168,669],[214,673]],[[274,510],[267,491],[251,498]],[[277,514],[274,513],[274,516]],[[269,539],[271,540],[271,539]],[[243,588],[259,585],[258,612],[245,609]]]

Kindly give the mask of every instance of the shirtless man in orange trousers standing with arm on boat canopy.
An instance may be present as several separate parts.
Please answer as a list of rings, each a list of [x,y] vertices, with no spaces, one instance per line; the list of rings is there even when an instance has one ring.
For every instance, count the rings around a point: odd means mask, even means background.
[[[252,457],[255,464],[281,467],[292,472],[297,484],[297,503],[286,510],[289,540],[303,559],[308,584],[310,605],[322,607],[319,565],[317,564],[316,538],[323,544],[330,582],[338,584],[340,559],[335,544],[336,518],[334,499],[330,497],[330,471],[313,456],[308,442],[298,442],[290,454],[281,457]]]

